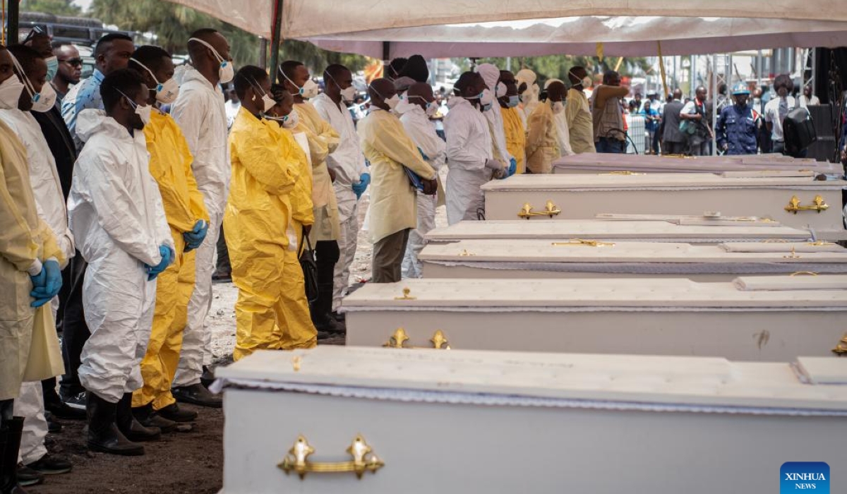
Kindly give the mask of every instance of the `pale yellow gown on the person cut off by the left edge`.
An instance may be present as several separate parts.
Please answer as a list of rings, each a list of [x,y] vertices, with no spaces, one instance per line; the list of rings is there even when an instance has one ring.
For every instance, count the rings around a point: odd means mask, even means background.
[[[31,308],[32,281],[42,262],[64,263],[53,231],[38,217],[26,149],[0,122],[0,400],[19,396],[20,384],[64,372],[50,304]],[[34,342],[41,341],[38,347]]]

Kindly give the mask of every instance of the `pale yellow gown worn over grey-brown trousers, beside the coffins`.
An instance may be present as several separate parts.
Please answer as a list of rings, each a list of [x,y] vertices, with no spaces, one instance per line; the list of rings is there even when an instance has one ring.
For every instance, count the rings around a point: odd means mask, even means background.
[[[368,241],[376,243],[392,233],[418,226],[415,190],[403,165],[424,180],[435,178],[435,169],[421,158],[395,114],[371,108],[358,125],[362,151],[371,164],[371,203]]]

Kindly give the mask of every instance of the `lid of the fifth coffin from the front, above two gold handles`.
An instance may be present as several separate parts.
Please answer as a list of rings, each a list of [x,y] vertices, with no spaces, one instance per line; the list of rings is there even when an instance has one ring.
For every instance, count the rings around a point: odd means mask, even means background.
[[[844,180],[814,180],[813,177],[724,177],[714,174],[655,173],[645,175],[514,175],[506,180],[491,180],[484,191],[567,191],[573,189],[628,188],[814,188],[840,191]]]

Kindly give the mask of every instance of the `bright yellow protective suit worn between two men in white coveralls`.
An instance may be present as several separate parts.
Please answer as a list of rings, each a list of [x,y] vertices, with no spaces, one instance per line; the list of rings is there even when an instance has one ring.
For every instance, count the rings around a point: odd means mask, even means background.
[[[152,402],[153,409],[159,410],[175,402],[170,387],[180,363],[188,300],[194,291],[194,252],[185,253],[182,234],[191,231],[198,219],[208,223],[209,215],[191,171],[194,158],[176,121],[154,110],[144,126],[144,137],[150,153],[150,175],[162,196],[176,256],[174,264],[156,279],[150,342],[141,360],[144,386],[132,393],[132,406],[143,407]]]

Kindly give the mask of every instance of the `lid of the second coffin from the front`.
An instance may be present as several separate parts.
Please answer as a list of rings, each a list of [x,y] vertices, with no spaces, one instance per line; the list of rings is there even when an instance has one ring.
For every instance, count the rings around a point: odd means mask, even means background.
[[[409,279],[400,283],[368,283],[342,305],[347,310],[415,309],[439,311],[467,308],[527,311],[543,308],[830,308],[847,310],[847,275],[819,275],[810,286],[805,276],[745,276],[728,282],[696,282],[683,278],[643,279]],[[743,290],[739,286],[782,284],[780,290]],[[788,287],[796,286],[797,290]],[[835,286],[833,288],[832,286]],[[407,290],[407,292],[406,292]],[[405,297],[405,298],[404,298]]]

